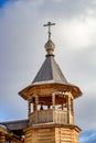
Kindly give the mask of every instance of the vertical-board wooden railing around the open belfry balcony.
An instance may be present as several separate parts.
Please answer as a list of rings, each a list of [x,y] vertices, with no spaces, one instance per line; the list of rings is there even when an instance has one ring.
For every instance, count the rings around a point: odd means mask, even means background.
[[[63,110],[39,110],[33,113],[30,113],[30,124],[36,124],[36,123],[62,123],[67,124],[67,111]],[[73,117],[72,121],[73,123]]]

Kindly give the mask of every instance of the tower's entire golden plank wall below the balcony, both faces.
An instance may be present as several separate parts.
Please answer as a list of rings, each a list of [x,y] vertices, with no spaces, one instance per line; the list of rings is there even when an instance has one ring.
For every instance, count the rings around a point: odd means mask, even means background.
[[[70,128],[38,128],[25,132],[24,143],[78,143],[78,132]]]

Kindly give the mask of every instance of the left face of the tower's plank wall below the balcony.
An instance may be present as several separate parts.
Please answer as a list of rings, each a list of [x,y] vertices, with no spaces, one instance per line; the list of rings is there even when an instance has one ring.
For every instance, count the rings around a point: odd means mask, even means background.
[[[26,131],[24,143],[55,143],[55,129],[34,129]]]

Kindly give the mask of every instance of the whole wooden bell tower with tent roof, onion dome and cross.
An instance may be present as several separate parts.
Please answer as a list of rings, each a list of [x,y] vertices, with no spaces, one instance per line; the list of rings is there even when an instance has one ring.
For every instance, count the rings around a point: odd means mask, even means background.
[[[78,143],[81,129],[74,122],[73,101],[82,91],[67,82],[54,59],[51,25],[44,25],[49,26],[45,61],[32,84],[19,92],[29,105],[24,143]]]

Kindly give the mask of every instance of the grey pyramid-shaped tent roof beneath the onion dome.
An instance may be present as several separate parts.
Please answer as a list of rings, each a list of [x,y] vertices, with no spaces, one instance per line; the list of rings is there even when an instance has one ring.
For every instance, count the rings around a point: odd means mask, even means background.
[[[57,82],[68,85],[66,78],[54,59],[54,56],[46,56],[43,65],[41,66],[38,75],[35,76],[32,85],[36,84]]]

